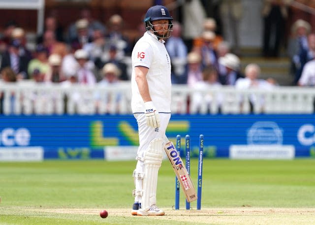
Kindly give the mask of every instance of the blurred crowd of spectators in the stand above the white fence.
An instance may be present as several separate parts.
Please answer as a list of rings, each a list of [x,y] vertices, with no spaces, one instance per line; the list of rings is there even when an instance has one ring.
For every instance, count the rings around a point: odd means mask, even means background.
[[[241,7],[241,1],[222,2],[224,17],[231,17],[229,21],[234,21],[234,24],[239,23],[241,14],[236,9]],[[288,0],[264,0],[263,56],[279,56],[283,40],[281,35],[284,33],[280,28],[284,27],[289,10],[286,2]],[[306,12],[300,10],[299,13],[294,14],[296,20],[287,38],[287,55],[292,61],[294,84],[310,86],[315,85],[315,28],[303,17]],[[206,17],[201,27],[200,35],[192,38],[188,46],[182,35],[183,25],[178,21],[173,23],[172,36],[166,40],[166,49],[172,61],[173,84],[187,84],[194,88],[233,85],[243,89],[277,86],[273,79],[259,79],[260,68],[255,63],[248,65],[245,74],[242,73],[236,31],[233,32],[235,37],[226,32],[220,34],[217,20],[212,17]],[[108,85],[128,81],[131,76],[128,63],[136,40],[128,39],[123,34],[123,28],[124,19],[120,15],[112,15],[105,26],[95,20],[88,9],[82,10],[80,18],[66,30],[59,26],[54,16],[48,16],[43,33],[36,38],[34,51],[30,51],[26,45],[25,30],[9,21],[0,39],[1,81],[30,80],[62,85]],[[139,32],[139,36],[145,32],[143,24]],[[275,40],[273,46],[269,46],[270,39]]]

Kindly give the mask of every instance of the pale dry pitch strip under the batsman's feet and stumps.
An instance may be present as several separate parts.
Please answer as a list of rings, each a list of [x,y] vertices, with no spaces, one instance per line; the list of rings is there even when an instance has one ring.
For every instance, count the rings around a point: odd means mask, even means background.
[[[38,212],[97,215],[99,209],[61,208],[28,209]],[[107,209],[108,216],[131,216],[129,209]],[[139,219],[141,217],[138,217]],[[165,216],[150,217],[153,220],[172,220],[191,224],[217,225],[310,225],[315,224],[315,208],[205,208],[202,210],[165,210]]]

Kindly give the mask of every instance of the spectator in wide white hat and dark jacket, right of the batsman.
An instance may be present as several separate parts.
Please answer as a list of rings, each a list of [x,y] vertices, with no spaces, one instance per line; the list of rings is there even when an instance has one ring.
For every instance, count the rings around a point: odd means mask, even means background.
[[[219,75],[219,81],[223,85],[234,85],[236,80],[243,78],[241,74],[241,61],[238,56],[227,53],[219,58],[219,63],[224,66],[226,73]]]

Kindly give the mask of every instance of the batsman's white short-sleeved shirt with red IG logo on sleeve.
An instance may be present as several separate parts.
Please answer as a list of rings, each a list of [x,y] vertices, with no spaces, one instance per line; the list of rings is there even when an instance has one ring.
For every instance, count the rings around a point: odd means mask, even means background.
[[[132,55],[131,109],[133,113],[144,112],[144,103],[135,81],[134,68],[149,68],[147,81],[150,96],[158,112],[171,112],[171,61],[164,41],[158,41],[156,35],[145,32],[135,44]]]

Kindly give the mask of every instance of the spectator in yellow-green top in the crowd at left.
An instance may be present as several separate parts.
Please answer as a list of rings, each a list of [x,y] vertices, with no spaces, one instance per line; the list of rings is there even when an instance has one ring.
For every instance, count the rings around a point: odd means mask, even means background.
[[[29,77],[32,78],[35,69],[39,70],[41,74],[48,74],[50,72],[48,50],[43,45],[37,45],[34,56],[28,66]]]

